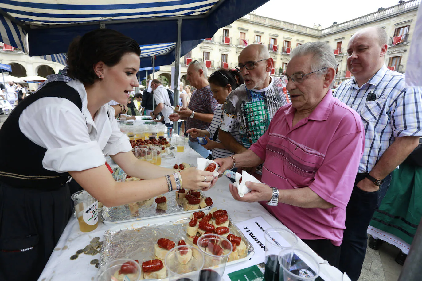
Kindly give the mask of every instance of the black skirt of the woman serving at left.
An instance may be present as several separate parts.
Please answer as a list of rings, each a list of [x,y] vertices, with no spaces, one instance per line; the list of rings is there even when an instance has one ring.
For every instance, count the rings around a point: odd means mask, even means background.
[[[55,190],[0,182],[0,281],[37,280],[72,211],[68,184]]]

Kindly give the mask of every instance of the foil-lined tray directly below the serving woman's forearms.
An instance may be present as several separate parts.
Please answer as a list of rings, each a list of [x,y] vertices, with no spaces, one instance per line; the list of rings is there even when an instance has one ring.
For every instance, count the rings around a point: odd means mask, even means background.
[[[201,196],[205,196],[202,190],[199,190]],[[121,205],[116,207],[103,207],[101,219],[106,224],[114,224],[120,222],[132,222],[139,219],[151,219],[156,217],[164,217],[177,213],[193,213],[196,211],[205,211],[210,209],[212,206],[207,206],[202,209],[189,210],[185,211],[182,205],[179,205],[176,201],[176,192],[168,192],[161,196],[167,198],[167,210],[157,209],[157,203],[155,203],[155,198],[143,201],[138,204],[138,214],[131,214],[129,210],[129,205]]]

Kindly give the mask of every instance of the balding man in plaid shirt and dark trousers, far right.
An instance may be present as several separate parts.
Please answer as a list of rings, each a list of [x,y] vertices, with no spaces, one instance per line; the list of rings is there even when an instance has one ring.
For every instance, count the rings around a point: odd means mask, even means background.
[[[390,173],[422,135],[422,90],[406,88],[404,75],[387,69],[386,53],[387,33],[381,27],[355,33],[347,46],[347,67],[354,77],[334,93],[360,114],[365,127],[365,151],[346,209],[339,267],[354,281],[362,270],[368,225],[390,185]]]

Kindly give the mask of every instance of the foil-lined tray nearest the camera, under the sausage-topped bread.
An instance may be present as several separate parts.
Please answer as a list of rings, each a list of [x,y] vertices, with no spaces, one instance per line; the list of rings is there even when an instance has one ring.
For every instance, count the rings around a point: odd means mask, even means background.
[[[207,212],[205,212],[207,214]],[[241,230],[229,217],[230,233],[242,238],[246,244],[246,256],[238,260],[227,262],[232,265],[238,262],[249,260],[254,254],[254,247],[243,235]],[[187,237],[186,226],[189,223],[189,214],[173,215],[170,221],[165,218],[157,219],[157,223],[146,224],[146,222],[135,222],[133,224],[121,224],[106,230],[103,236],[103,247],[101,249],[99,267],[107,262],[116,259],[128,258],[138,260],[141,264],[144,261],[157,259],[154,254],[154,245],[160,238],[168,238],[177,245],[180,239],[186,244],[192,245]]]

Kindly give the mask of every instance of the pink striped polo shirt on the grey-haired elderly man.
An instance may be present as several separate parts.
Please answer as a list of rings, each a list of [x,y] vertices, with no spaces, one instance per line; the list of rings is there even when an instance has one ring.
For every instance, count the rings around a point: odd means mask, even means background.
[[[299,238],[329,239],[339,246],[363,154],[362,121],[335,99],[331,90],[308,118],[292,127],[294,115],[292,104],[281,107],[265,134],[250,148],[264,161],[262,182],[280,190],[309,187],[335,207],[263,206]]]

